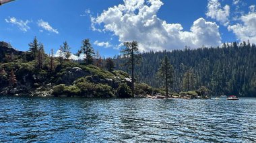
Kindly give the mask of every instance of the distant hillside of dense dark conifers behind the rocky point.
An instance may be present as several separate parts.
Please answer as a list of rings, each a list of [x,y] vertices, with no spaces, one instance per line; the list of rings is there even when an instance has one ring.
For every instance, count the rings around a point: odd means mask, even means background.
[[[205,86],[213,95],[256,96],[256,46],[249,42],[224,44],[221,48],[173,50],[172,52],[143,52],[141,63],[136,66],[138,81],[161,87],[156,79],[161,60],[167,55],[174,67],[172,91],[188,91]],[[115,58],[116,68],[125,58]]]

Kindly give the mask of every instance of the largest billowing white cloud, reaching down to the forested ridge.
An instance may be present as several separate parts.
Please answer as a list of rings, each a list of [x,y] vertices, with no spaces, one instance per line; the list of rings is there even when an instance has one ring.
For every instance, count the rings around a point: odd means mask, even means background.
[[[137,40],[139,50],[172,50],[185,46],[198,48],[221,43],[216,23],[197,19],[189,32],[179,23],[167,23],[157,12],[164,3],[160,0],[124,0],[124,5],[109,7],[98,17],[92,17],[92,30],[113,32],[119,42]]]

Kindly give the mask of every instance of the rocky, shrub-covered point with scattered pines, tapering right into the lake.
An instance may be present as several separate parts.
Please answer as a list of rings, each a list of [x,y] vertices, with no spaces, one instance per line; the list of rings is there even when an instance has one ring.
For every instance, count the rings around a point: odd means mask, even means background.
[[[88,39],[83,42],[90,47]],[[152,99],[166,96],[166,89],[150,87],[136,79],[134,82],[132,75],[114,70],[111,58],[91,56],[85,59],[86,63],[70,60],[67,42],[61,46],[65,56],[59,57],[53,56],[53,50],[49,55],[44,54],[44,46],[36,38],[29,46],[28,52],[22,52],[0,42],[0,95]],[[210,96],[208,89],[201,87],[197,91],[168,93],[168,98],[209,99]]]

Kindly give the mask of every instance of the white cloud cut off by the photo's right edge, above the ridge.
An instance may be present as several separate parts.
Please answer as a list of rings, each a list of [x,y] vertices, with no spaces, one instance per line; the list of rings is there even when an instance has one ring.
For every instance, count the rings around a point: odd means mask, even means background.
[[[251,11],[240,19],[242,23],[228,26],[228,30],[234,32],[236,38],[240,41],[250,40],[256,43],[256,12]]]

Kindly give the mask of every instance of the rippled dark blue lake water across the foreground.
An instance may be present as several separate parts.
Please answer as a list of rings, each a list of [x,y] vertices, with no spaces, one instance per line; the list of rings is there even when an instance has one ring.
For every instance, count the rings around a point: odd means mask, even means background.
[[[256,99],[0,97],[0,142],[256,142]]]

